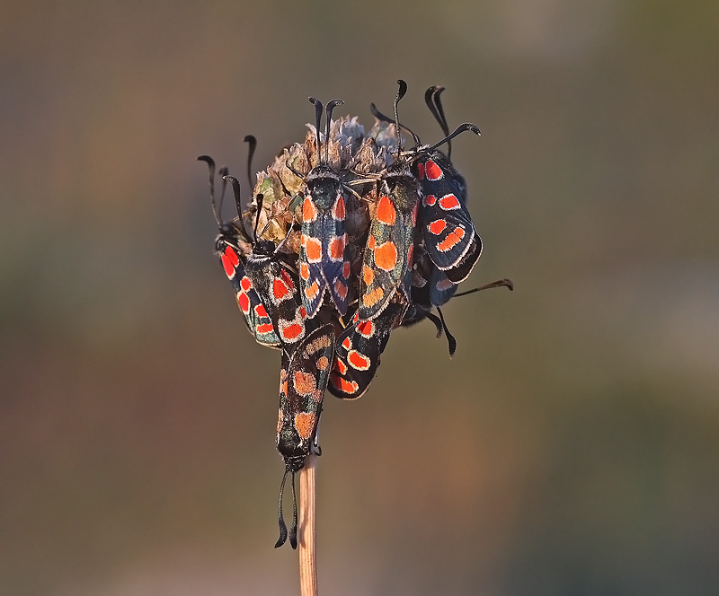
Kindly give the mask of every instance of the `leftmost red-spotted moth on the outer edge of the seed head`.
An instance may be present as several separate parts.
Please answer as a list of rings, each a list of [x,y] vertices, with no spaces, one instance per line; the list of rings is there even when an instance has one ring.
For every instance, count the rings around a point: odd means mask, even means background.
[[[239,216],[233,222],[223,222],[219,215],[221,205],[217,208],[215,204],[215,162],[208,155],[200,155],[198,160],[206,162],[209,167],[210,202],[219,229],[219,234],[215,239],[215,254],[235,290],[235,300],[243,313],[247,329],[258,344],[277,348],[280,346],[280,338],[277,337],[260,296],[255,292],[253,283],[244,270],[248,252],[252,250],[253,241],[244,229],[242,207],[239,200],[239,183],[234,178],[227,177],[227,180],[231,180],[233,183]],[[220,173],[223,174],[222,195],[224,196],[226,169],[223,168]]]

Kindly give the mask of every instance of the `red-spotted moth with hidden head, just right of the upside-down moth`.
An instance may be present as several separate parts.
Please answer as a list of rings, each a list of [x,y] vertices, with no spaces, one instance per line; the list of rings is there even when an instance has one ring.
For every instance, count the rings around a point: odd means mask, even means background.
[[[390,333],[406,308],[406,304],[392,302],[373,320],[360,320],[355,313],[335,345],[337,357],[327,386],[335,398],[358,399],[368,390]]]

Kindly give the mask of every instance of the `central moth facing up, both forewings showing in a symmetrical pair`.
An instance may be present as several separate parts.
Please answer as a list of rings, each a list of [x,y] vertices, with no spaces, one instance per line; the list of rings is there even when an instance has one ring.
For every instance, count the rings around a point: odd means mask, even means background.
[[[317,154],[320,152],[320,120],[322,102],[314,97]],[[299,252],[299,278],[302,302],[310,317],[322,305],[324,294],[330,294],[334,307],[344,315],[347,312],[347,294],[350,262],[347,256],[345,231],[345,203],[342,180],[329,165],[330,126],[333,109],[344,103],[333,100],[326,108],[324,160],[306,175],[306,195],[302,204],[302,242]]]

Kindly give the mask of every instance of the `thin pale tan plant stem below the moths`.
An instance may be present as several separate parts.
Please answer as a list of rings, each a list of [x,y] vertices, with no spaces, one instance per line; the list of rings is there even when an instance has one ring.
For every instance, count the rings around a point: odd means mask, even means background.
[[[299,588],[301,596],[317,596],[315,549],[315,469],[317,456],[312,453],[299,472]]]

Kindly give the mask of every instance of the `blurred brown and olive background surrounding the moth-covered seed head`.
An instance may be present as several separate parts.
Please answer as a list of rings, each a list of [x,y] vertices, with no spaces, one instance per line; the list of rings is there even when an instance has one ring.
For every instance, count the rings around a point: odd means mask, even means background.
[[[713,2],[3,2],[0,593],[297,592],[274,550],[279,355],[212,254],[306,100],[457,138],[484,255],[329,394],[325,594],[719,590]],[[243,176],[244,180],[244,176]],[[246,186],[246,185],[245,185]],[[226,212],[229,213],[229,210]]]

